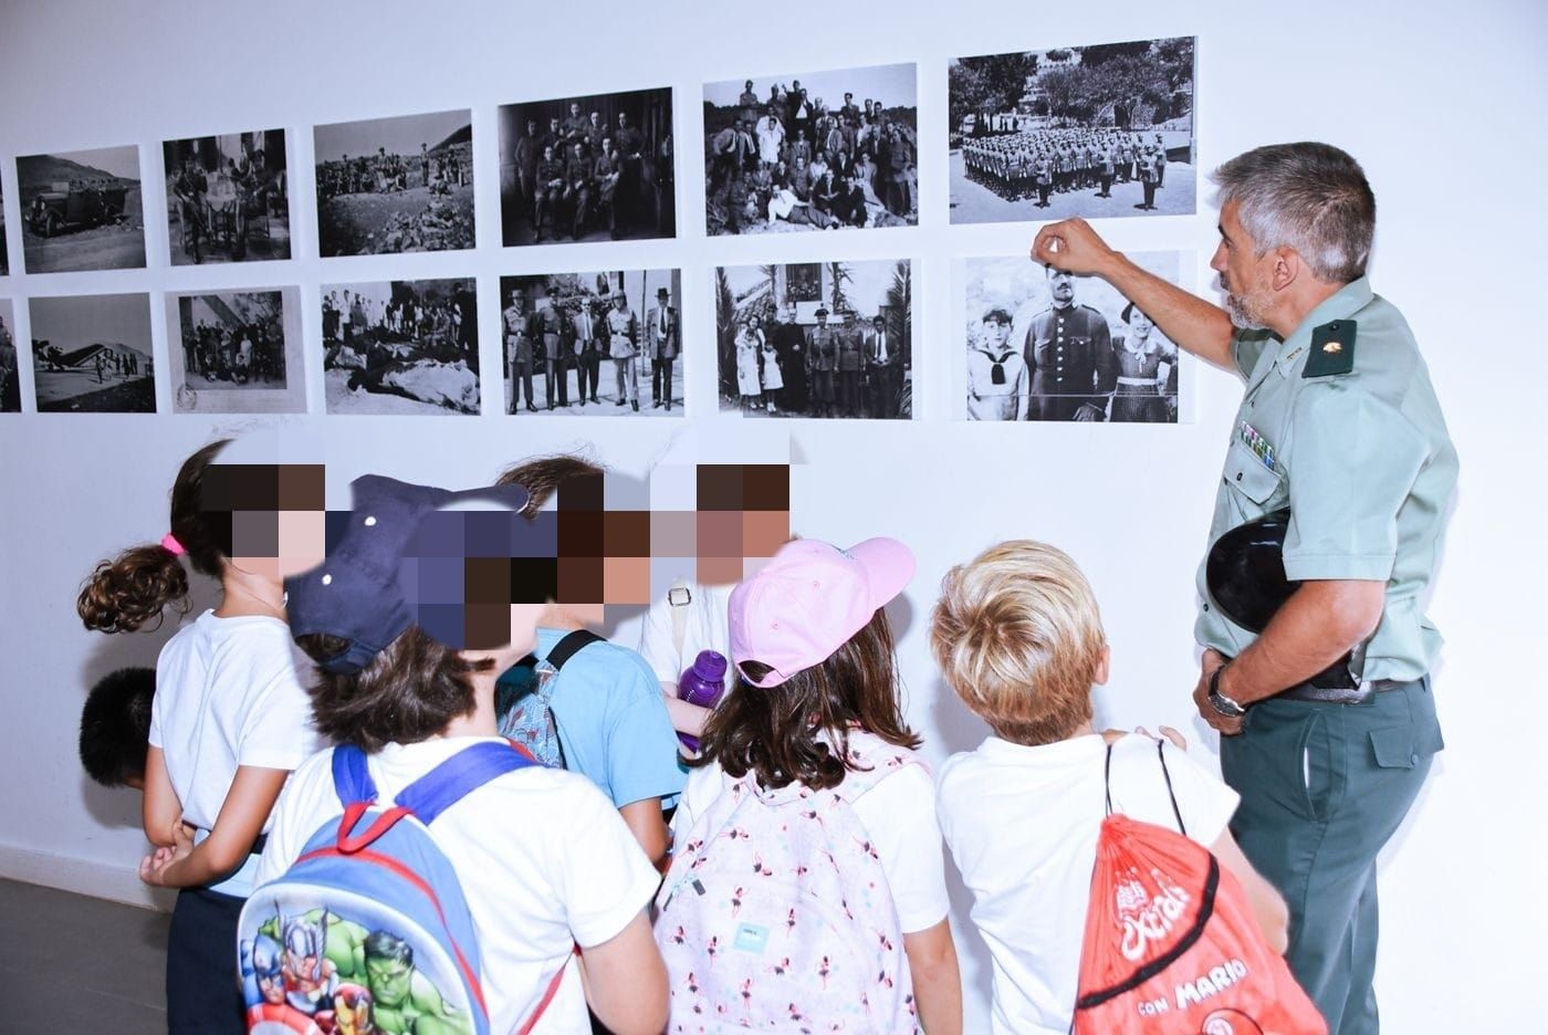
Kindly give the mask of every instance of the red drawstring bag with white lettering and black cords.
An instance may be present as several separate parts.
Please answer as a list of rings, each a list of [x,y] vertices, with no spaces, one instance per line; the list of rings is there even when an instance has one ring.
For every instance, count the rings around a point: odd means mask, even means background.
[[[1156,744],[1167,794],[1166,744]],[[1107,747],[1111,777],[1113,747]],[[1235,876],[1178,831],[1113,814],[1096,842],[1074,1035],[1327,1035]]]

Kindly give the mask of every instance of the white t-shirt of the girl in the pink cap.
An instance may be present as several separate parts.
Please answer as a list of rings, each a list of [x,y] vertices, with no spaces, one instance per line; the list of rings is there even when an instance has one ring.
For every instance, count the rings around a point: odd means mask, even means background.
[[[672,817],[673,854],[683,849],[694,820],[709,809],[724,786],[724,770],[718,763],[689,774]],[[912,934],[946,919],[950,902],[946,897],[946,862],[941,829],[935,823],[930,770],[923,761],[902,766],[851,804],[881,857],[893,905],[898,907],[899,930]]]

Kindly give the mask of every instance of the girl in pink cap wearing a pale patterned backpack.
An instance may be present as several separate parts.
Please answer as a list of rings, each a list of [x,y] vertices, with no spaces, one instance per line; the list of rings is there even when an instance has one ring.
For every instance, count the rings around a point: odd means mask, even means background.
[[[930,777],[881,611],[912,576],[895,540],[797,540],[732,591],[741,685],[704,727],[658,896],[670,1030],[892,1035],[916,1013],[961,1032]]]

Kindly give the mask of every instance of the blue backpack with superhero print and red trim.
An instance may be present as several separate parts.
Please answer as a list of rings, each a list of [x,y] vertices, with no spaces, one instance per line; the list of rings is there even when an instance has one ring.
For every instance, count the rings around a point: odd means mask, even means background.
[[[536,764],[509,744],[464,747],[376,801],[365,752],[333,750],[344,814],[324,823],[237,924],[248,1030],[488,1035],[478,939],[457,871],[429,825],[491,780]],[[548,984],[531,1030],[559,990]]]

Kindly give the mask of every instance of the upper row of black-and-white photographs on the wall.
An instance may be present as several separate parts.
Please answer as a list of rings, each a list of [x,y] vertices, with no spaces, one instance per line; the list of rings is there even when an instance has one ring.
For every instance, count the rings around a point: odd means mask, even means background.
[[[954,60],[950,221],[1192,213],[1194,84],[1194,37]],[[711,235],[918,224],[913,65],[706,84],[703,119]],[[676,235],[670,88],[508,104],[497,122],[503,246]],[[19,158],[26,271],[146,266],[147,203],[166,206],[173,266],[291,257],[285,130],[161,150],[149,195],[138,147]],[[313,158],[320,255],[474,248],[471,111],[317,125]]]

